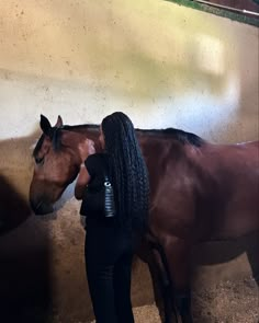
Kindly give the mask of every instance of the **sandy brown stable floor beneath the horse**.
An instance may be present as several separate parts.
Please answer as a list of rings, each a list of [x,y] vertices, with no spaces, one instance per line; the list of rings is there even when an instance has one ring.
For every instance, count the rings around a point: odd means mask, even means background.
[[[193,315],[195,323],[259,323],[255,280],[248,277],[201,290],[193,295]],[[135,308],[134,316],[135,323],[161,323],[155,304]]]

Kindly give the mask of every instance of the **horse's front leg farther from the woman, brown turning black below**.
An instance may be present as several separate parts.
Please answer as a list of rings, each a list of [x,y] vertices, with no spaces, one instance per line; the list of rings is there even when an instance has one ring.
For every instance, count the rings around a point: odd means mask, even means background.
[[[182,323],[193,323],[190,285],[190,242],[177,237],[168,237],[165,241],[164,251],[173,288],[176,308]]]

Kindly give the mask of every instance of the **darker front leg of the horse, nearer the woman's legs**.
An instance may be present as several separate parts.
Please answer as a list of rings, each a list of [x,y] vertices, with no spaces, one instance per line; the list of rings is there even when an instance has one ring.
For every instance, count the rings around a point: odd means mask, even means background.
[[[149,270],[155,285],[155,298],[160,312],[160,316],[162,318],[164,323],[178,323],[177,311],[172,300],[173,295],[171,292],[171,281],[164,251],[160,245],[154,243],[151,244],[151,251],[156,266],[155,268],[154,266],[149,266]],[[160,303],[160,298],[162,299],[162,304]]]

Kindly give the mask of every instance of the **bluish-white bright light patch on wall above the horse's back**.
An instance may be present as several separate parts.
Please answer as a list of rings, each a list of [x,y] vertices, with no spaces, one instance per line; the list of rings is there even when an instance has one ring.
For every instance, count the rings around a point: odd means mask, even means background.
[[[154,106],[149,106],[154,113],[146,115],[145,124],[151,128],[180,128],[216,141],[238,114],[239,95],[240,80],[233,73],[229,74],[221,97],[209,91],[198,93],[193,89],[182,97],[158,100]],[[137,114],[134,115],[134,120],[136,126],[143,126]]]

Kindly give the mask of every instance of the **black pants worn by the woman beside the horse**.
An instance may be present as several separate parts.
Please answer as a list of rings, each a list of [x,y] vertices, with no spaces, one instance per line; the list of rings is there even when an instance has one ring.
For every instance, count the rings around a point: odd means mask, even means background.
[[[112,222],[88,221],[86,266],[97,323],[134,323],[131,302],[133,246]]]

